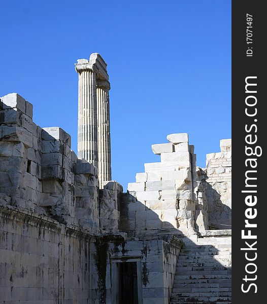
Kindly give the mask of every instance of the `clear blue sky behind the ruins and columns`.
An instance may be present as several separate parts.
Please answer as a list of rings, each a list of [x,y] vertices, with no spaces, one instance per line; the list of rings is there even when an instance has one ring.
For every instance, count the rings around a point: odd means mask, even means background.
[[[74,63],[100,53],[111,91],[113,179],[135,181],[157,162],[151,144],[189,133],[197,163],[231,137],[229,0],[12,1],[0,4],[0,96],[34,104],[77,151]]]

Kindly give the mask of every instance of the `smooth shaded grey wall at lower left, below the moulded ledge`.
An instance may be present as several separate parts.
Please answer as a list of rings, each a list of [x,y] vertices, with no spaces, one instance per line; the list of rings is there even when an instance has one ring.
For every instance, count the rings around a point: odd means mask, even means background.
[[[88,303],[88,234],[16,207],[0,207],[0,222],[1,303]]]

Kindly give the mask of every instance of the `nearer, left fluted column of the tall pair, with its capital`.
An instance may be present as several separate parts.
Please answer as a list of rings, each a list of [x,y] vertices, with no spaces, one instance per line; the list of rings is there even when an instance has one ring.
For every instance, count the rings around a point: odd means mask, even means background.
[[[98,166],[96,74],[87,59],[76,64],[78,85],[78,157]]]

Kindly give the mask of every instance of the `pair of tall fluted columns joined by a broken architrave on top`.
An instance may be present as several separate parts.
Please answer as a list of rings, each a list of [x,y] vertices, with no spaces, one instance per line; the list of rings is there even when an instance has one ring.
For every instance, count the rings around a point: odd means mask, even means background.
[[[79,59],[78,157],[98,167],[99,187],[111,180],[109,75],[97,53]]]

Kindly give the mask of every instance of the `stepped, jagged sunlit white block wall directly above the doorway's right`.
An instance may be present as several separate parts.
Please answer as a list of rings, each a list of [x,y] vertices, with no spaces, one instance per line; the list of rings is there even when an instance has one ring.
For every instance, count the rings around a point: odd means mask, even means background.
[[[157,235],[164,230],[191,235],[196,228],[208,227],[207,200],[194,146],[188,144],[186,133],[171,134],[167,139],[170,143],[152,145],[161,162],[145,164],[145,172],[137,173],[136,182],[128,184],[120,229],[129,235]]]

